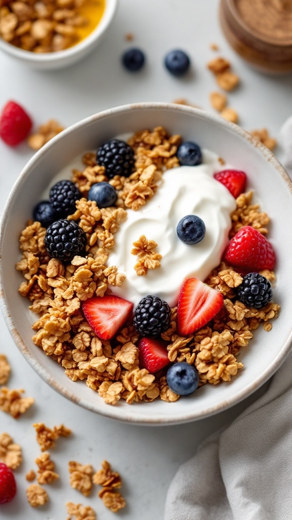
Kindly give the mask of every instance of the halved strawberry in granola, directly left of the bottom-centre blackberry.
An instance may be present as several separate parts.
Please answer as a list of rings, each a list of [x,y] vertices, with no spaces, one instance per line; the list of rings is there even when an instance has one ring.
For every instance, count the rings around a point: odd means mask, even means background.
[[[110,340],[125,323],[133,304],[112,294],[88,298],[82,310],[91,329],[102,339]]]

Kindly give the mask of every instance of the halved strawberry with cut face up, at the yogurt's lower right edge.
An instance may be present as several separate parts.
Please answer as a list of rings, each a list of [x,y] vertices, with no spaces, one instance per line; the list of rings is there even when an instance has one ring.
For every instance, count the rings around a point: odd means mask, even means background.
[[[223,306],[223,296],[197,278],[185,281],[178,298],[177,328],[181,336],[204,327]]]

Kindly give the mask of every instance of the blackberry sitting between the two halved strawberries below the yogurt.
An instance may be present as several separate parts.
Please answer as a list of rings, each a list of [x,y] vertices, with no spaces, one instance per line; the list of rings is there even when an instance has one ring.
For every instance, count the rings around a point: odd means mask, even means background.
[[[168,329],[169,323],[168,303],[151,294],[142,298],[134,314],[134,327],[139,334],[156,337]]]

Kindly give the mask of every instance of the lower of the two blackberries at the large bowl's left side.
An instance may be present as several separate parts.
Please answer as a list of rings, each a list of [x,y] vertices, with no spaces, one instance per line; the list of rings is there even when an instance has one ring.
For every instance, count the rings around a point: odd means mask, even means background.
[[[74,222],[63,218],[52,223],[45,235],[45,246],[52,258],[61,262],[71,262],[75,255],[84,252],[86,235]]]

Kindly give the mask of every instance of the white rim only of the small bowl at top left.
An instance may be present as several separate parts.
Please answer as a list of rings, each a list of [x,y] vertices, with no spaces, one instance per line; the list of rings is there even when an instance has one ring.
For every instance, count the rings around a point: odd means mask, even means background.
[[[83,38],[81,42],[76,43],[68,49],[58,50],[52,53],[33,53],[30,50],[21,49],[20,47],[11,45],[9,42],[5,42],[5,40],[0,37],[0,50],[3,50],[5,53],[18,58],[23,62],[34,64],[39,63],[43,64],[44,66],[45,64],[57,64],[67,59],[71,59],[79,53],[86,52],[88,48],[90,48],[96,41],[99,40],[99,38],[101,38],[101,36],[109,27],[109,24],[111,23],[117,10],[117,6],[118,0],[105,0],[103,15],[96,28],[91,31],[88,36]]]

